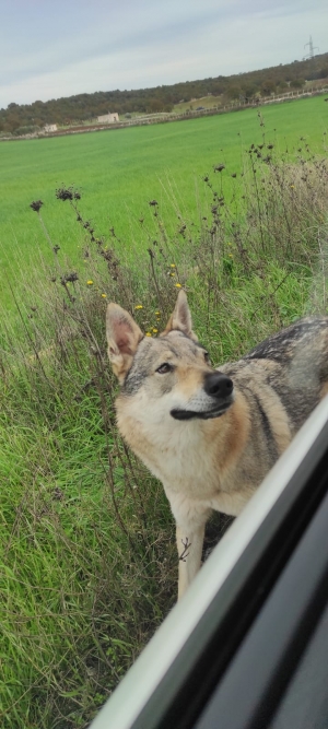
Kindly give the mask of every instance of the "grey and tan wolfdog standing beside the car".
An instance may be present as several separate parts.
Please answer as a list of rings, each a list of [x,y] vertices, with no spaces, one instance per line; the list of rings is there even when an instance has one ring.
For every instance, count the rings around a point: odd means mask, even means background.
[[[328,317],[301,319],[214,369],[181,290],[159,338],[109,304],[107,341],[118,428],[162,481],[176,520],[180,598],[212,509],[241,513],[328,391]]]

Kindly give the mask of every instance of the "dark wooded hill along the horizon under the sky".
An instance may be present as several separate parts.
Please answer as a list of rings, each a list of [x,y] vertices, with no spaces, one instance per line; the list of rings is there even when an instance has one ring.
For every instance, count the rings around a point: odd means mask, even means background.
[[[119,115],[132,113],[171,111],[179,102],[190,102],[207,95],[222,98],[222,103],[234,98],[268,96],[276,92],[300,89],[305,81],[328,78],[328,54],[305,61],[293,61],[259,71],[230,77],[185,81],[172,86],[155,86],[137,91],[97,91],[94,94],[78,94],[49,102],[33,104],[9,104],[0,109],[0,133],[23,133],[36,130],[45,124],[58,126],[92,120],[108,111]]]

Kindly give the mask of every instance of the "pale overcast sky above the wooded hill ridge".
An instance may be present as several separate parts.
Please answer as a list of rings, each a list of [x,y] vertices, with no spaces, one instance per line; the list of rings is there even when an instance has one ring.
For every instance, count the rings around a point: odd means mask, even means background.
[[[0,108],[328,51],[327,0],[0,0]]]

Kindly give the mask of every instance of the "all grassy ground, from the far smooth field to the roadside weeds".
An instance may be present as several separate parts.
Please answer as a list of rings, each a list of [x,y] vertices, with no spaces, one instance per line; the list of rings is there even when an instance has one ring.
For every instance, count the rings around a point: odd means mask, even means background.
[[[0,145],[3,729],[84,729],[175,600],[173,518],[115,426],[106,302],[156,336],[183,285],[214,365],[327,313],[326,106]]]

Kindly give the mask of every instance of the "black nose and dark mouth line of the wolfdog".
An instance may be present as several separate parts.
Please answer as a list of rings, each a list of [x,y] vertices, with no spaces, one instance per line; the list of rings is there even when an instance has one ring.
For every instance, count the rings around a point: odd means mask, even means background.
[[[191,420],[198,418],[200,420],[210,420],[211,418],[220,418],[233,403],[234,384],[227,375],[221,372],[209,373],[204,377],[203,389],[208,396],[208,407],[201,410],[185,410],[175,408],[171,411],[171,415],[175,420]]]

